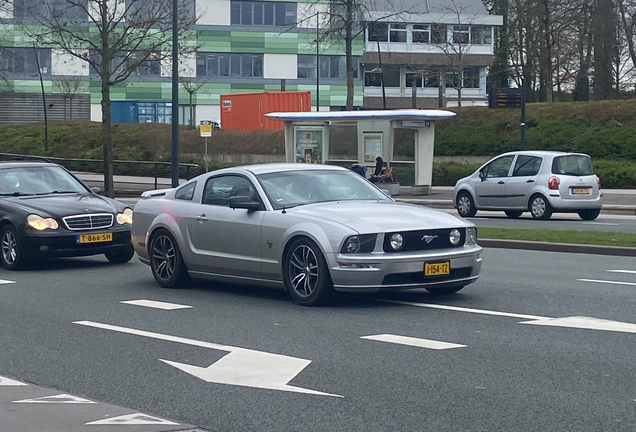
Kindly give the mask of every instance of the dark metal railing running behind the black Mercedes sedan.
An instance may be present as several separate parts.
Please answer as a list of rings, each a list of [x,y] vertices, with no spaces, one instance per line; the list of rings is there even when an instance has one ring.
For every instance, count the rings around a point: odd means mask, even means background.
[[[58,158],[49,156],[33,156],[15,153],[0,153],[0,160],[33,160],[47,161],[62,165],[69,171],[82,171],[94,174],[103,173],[102,159],[78,159],[78,158]],[[179,164],[179,178],[189,180],[192,178],[192,168],[197,168],[197,164]],[[157,189],[158,179],[160,177],[171,177],[172,162],[159,161],[122,161],[113,160],[113,175],[131,175],[140,177],[153,177],[155,180],[155,189]],[[185,168],[185,172],[182,171]]]

